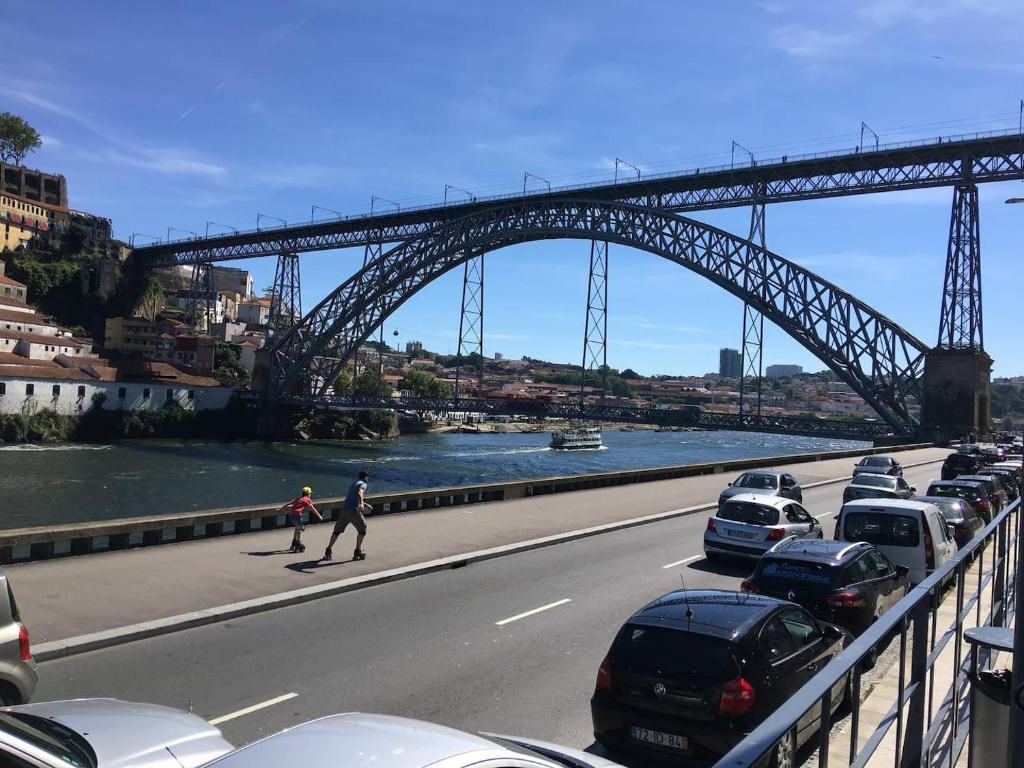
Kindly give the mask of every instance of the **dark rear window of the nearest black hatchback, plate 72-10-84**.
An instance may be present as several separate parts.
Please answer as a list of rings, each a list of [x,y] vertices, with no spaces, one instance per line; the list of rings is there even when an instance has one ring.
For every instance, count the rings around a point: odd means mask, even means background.
[[[641,674],[706,680],[731,680],[736,675],[728,641],[660,627],[626,625],[615,638],[611,657]]]

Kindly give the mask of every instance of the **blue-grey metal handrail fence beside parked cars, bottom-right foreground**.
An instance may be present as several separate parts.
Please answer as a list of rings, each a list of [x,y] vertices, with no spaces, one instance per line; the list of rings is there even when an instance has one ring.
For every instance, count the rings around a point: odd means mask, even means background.
[[[816,746],[812,743],[808,749],[816,750],[819,768],[827,767],[829,757],[834,765],[853,768],[956,766],[971,734],[971,654],[965,653],[964,631],[973,626],[1007,626],[1011,618],[1020,565],[1016,554],[1020,524],[1018,500],[884,613],[715,768],[760,765],[797,722],[815,709],[822,713],[821,727]],[[879,718],[871,715],[878,708],[860,707],[862,670],[872,648],[889,638],[899,654],[895,700]],[[980,664],[988,662],[982,652]],[[829,708],[822,705],[847,676],[853,701],[850,721],[834,729]],[[872,726],[871,720],[878,722]]]

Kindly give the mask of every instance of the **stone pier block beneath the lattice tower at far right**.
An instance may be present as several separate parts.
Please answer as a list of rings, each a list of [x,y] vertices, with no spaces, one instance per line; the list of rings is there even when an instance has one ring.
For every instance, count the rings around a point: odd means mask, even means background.
[[[935,348],[925,356],[921,425],[936,439],[991,429],[992,358],[982,349]]]

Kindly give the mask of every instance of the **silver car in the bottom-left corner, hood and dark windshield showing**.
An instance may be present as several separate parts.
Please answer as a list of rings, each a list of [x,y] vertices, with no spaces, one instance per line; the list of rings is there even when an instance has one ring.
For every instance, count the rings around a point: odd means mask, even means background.
[[[5,766],[195,768],[233,749],[202,718],[169,707],[78,698],[0,710]]]

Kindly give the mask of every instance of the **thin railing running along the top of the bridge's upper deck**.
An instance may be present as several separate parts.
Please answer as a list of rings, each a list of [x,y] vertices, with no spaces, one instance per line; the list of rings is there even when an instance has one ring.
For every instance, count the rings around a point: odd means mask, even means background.
[[[887,152],[893,152],[896,150],[908,150],[918,146],[938,146],[944,143],[957,143],[963,141],[977,141],[984,138],[1004,138],[1007,136],[1021,135],[1018,131],[1014,129],[1001,130],[1001,131],[981,131],[976,133],[963,133],[952,136],[937,136],[935,138],[923,138],[923,139],[912,139],[908,141],[895,141],[886,144],[880,144],[878,147],[871,147],[870,150],[865,150],[864,147],[843,147],[840,150],[827,150],[824,152],[817,153],[807,153],[803,155],[783,155],[775,158],[766,158],[764,160],[758,160],[755,162],[753,167],[761,168],[764,166],[780,166],[780,165],[792,165],[794,163],[807,163],[819,160],[828,160],[833,158],[850,157],[852,155],[877,155]],[[452,201],[446,203],[428,203],[419,206],[411,206],[409,208],[401,208],[398,211],[389,212],[388,215],[404,214],[404,213],[422,213],[424,211],[443,211],[449,208],[460,208],[467,205],[479,205],[481,203],[500,203],[507,200],[517,200],[523,198],[540,198],[550,195],[559,195],[563,193],[581,191],[584,189],[602,189],[602,188],[613,188],[615,186],[628,186],[631,184],[646,183],[650,181],[664,181],[666,179],[673,178],[684,178],[690,177],[700,177],[707,176],[709,174],[715,173],[725,173],[727,171],[742,171],[751,168],[752,166],[748,163],[736,164],[728,163],[723,165],[706,166],[700,168],[689,168],[685,170],[678,171],[666,171],[663,173],[652,173],[644,174],[640,179],[630,177],[625,177],[622,179],[599,179],[595,181],[580,183],[580,184],[566,184],[563,186],[555,186],[551,189],[530,189],[526,193],[504,193],[501,195],[485,195],[476,197],[471,203],[467,203],[464,200]],[[245,237],[250,234],[257,234],[260,232],[272,232],[283,229],[293,229],[298,226],[313,226],[326,223],[338,223],[342,221],[359,221],[364,219],[379,218],[382,214],[372,213],[366,211],[364,213],[352,213],[338,216],[325,216],[324,218],[316,219],[315,221],[310,220],[308,222],[301,222],[296,224],[274,224],[273,226],[264,226],[254,229],[240,229],[234,234],[230,237]],[[224,236],[218,236],[218,238]],[[165,240],[158,241],[159,245],[173,245],[176,243],[188,243],[196,242],[197,240],[206,240],[205,238],[179,238],[177,240]],[[156,245],[156,244],[155,244]],[[144,249],[139,249],[144,250]]]

